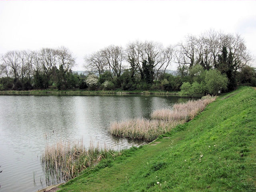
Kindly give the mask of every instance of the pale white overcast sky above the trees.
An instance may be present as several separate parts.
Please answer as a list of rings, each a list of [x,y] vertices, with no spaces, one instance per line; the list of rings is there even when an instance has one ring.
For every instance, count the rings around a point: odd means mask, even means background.
[[[239,33],[256,55],[256,1],[0,1],[0,53],[66,46],[85,54],[134,40],[176,44],[211,29]]]

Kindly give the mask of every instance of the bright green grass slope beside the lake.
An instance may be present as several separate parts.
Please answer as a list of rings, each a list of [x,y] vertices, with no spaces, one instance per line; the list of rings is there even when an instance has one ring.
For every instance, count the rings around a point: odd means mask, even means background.
[[[232,93],[174,128],[170,138],[102,160],[60,192],[256,191],[256,90]]]

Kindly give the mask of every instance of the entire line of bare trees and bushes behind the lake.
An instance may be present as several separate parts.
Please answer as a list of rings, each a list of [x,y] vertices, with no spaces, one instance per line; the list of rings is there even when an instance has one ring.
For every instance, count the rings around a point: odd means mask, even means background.
[[[64,47],[7,52],[2,56],[0,72],[1,80],[7,78],[11,82],[4,89],[56,86],[58,89],[175,91],[181,90],[186,82],[185,95],[191,87],[195,89],[196,83],[196,92],[213,94],[216,90],[212,92],[208,86],[218,84],[216,89],[230,91],[238,84],[256,84],[255,68],[248,66],[251,61],[252,56],[239,34],[209,30],[199,36],[188,35],[182,42],[167,47],[153,41],[129,42],[125,48],[110,45],[84,56],[88,76],[72,73],[75,59]],[[178,66],[176,72],[167,73],[173,64]],[[218,79],[222,83],[216,82]],[[196,95],[192,92],[190,95]]]

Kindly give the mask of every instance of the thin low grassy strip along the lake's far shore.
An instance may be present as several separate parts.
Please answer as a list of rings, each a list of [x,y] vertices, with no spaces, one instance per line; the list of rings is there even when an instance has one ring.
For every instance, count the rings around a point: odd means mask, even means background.
[[[124,91],[124,90],[28,90],[28,91],[16,91],[7,90],[0,91],[0,95],[58,95],[58,96],[83,96],[83,95],[128,95],[128,94],[142,94],[142,95],[178,95],[178,92],[163,92],[163,91]]]

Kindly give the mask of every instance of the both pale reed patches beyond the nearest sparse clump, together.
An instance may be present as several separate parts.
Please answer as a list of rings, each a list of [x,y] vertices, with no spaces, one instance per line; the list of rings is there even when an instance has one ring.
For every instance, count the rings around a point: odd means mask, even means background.
[[[200,100],[175,104],[173,110],[156,110],[151,114],[151,120],[136,118],[122,122],[115,121],[110,124],[110,133],[120,137],[152,141],[161,134],[169,132],[176,125],[193,119],[215,99],[216,97],[204,96]]]

